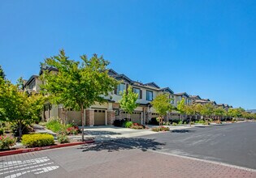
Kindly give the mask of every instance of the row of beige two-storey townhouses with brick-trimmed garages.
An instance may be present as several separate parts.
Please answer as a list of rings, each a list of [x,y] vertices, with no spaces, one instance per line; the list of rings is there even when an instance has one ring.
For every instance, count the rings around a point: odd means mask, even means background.
[[[48,68],[51,72],[58,72],[57,69],[52,67]],[[39,76],[42,74],[40,70],[39,75],[33,75],[28,81],[24,82],[24,90],[40,91],[40,85],[42,84]],[[91,106],[85,109],[85,125],[112,125],[116,119],[124,119],[127,117],[127,113],[119,107],[119,100],[121,99],[122,91],[127,90],[128,86],[132,86],[133,92],[138,94],[137,108],[131,115],[131,119],[134,122],[140,124],[147,124],[151,119],[158,117],[158,113],[154,111],[154,108],[150,104],[154,100],[155,96],[161,93],[169,94],[171,104],[176,107],[180,100],[184,99],[185,104],[207,104],[212,103],[216,107],[223,107],[228,110],[232,106],[228,104],[216,104],[215,101],[209,99],[202,99],[199,95],[188,95],[186,92],[174,93],[169,87],[159,87],[156,83],[141,83],[136,82],[125,74],[118,74],[115,70],[109,70],[108,74],[118,80],[120,83],[109,95],[106,96],[106,103]],[[65,119],[67,122],[74,122],[77,125],[81,125],[82,118],[80,112],[69,109],[68,111],[63,108],[61,104],[54,105],[46,103],[42,119],[47,121],[50,117],[59,117]],[[185,116],[181,116],[184,118]],[[171,119],[179,119],[179,112],[167,113],[166,121]],[[185,118],[184,118],[185,119]]]

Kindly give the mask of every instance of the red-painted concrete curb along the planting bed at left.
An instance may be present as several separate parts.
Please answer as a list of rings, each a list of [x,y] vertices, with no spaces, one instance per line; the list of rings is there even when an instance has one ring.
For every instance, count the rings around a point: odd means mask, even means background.
[[[0,157],[1,156],[7,156],[7,155],[16,155],[16,154],[28,153],[28,152],[38,151],[38,150],[49,150],[49,149],[54,149],[54,148],[67,147],[67,146],[77,146],[77,145],[89,144],[89,143],[93,143],[93,142],[94,142],[94,140],[90,140],[90,141],[85,141],[85,142],[63,143],[63,144],[54,145],[54,146],[24,148],[24,149],[19,149],[19,150],[6,150],[6,151],[1,151],[0,152]]]

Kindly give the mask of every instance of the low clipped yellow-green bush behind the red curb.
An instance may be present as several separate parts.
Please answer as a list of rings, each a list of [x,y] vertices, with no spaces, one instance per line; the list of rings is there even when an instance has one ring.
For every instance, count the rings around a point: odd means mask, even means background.
[[[21,140],[22,144],[28,147],[54,145],[54,136],[51,134],[25,134]]]

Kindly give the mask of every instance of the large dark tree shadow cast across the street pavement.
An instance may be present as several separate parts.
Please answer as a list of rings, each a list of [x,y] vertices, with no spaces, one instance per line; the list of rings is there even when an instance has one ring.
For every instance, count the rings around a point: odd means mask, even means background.
[[[94,150],[101,151],[107,150],[108,152],[119,151],[119,150],[132,150],[132,149],[141,149],[142,151],[146,150],[160,150],[161,147],[165,145],[161,142],[155,142],[154,139],[146,138],[115,138],[109,141],[95,142],[89,145],[81,146],[80,150],[83,152]]]

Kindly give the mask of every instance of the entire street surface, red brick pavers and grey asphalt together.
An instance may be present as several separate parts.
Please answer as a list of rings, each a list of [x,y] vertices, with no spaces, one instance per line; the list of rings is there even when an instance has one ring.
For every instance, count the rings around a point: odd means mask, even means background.
[[[5,156],[0,177],[256,177],[255,127],[215,125]]]

